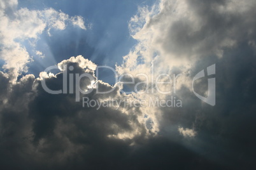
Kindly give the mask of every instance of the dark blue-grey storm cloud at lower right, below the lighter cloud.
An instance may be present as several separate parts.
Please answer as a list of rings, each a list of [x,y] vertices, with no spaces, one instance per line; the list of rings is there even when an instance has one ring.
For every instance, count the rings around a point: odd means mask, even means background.
[[[189,89],[181,88],[177,95],[183,108],[162,108],[160,129],[167,135],[179,126],[192,128],[197,136],[185,143],[188,148],[231,169],[250,169],[255,166],[256,152],[255,53],[247,43],[241,43],[224,56],[215,58],[215,107],[202,103]],[[196,68],[206,68],[210,60],[205,58]],[[196,69],[190,76],[197,72]],[[195,86],[204,86],[202,83]]]

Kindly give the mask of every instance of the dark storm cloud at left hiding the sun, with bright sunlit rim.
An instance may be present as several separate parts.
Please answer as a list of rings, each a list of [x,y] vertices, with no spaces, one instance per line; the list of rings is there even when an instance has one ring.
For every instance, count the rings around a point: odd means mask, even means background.
[[[66,63],[75,67],[75,73],[84,72],[78,63]],[[6,79],[3,75],[1,78]],[[10,85],[8,81],[2,82]],[[6,88],[5,98],[9,100],[1,108],[0,145],[4,168],[144,169],[161,164],[162,169],[169,169],[180,167],[179,159],[187,161],[182,165],[184,168],[201,161],[203,164],[198,167],[213,166],[177,141],[146,138],[145,125],[138,122],[139,110],[127,110],[128,114],[124,114],[113,108],[83,108],[80,102],[75,102],[74,95],[50,95],[40,84],[30,75],[13,86],[13,91]],[[51,84],[55,89],[62,88],[62,74],[46,79],[46,84],[49,88],[53,87]],[[115,98],[118,93],[113,93]],[[87,96],[103,98],[95,92]],[[139,129],[139,135],[131,139],[108,137],[135,129]]]

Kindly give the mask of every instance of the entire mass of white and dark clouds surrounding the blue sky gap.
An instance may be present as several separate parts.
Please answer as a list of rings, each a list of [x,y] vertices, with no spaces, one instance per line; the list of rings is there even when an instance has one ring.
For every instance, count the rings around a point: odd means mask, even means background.
[[[119,75],[181,74],[173,96],[121,93],[124,86],[99,80],[96,63],[83,56],[60,62],[58,74],[41,72],[38,78],[25,75],[13,82],[29,61],[29,54],[15,39],[38,39],[43,31],[62,30],[68,23],[85,27],[80,16],[70,17],[52,8],[17,10],[17,1],[0,5],[4,23],[0,55],[6,61],[4,69],[13,69],[0,72],[3,169],[255,167],[255,1],[162,0],[139,8],[129,23],[138,44],[116,70]],[[216,65],[215,107],[203,103],[192,91],[194,75],[212,64]],[[43,81],[52,90],[62,89],[65,72],[67,83],[74,81],[71,75],[75,74],[93,77],[93,81],[83,77],[79,84],[91,93],[80,94],[76,102],[75,93],[51,95],[43,89]],[[139,76],[135,81],[145,79]],[[154,81],[148,79],[150,88],[156,90]],[[113,91],[96,93],[96,82],[101,91]],[[197,93],[207,95],[207,83],[208,78],[195,82]],[[164,91],[169,88],[169,84],[161,86]],[[67,89],[71,89],[69,83]],[[120,108],[83,107],[83,97],[112,99],[120,102]],[[182,101],[181,108],[134,107],[124,102],[125,98],[149,101],[172,97]]]

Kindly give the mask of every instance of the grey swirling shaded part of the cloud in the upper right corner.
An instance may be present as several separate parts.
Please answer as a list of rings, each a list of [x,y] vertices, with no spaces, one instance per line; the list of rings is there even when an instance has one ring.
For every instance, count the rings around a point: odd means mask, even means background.
[[[254,1],[164,1],[145,31],[153,28],[158,32],[153,42],[163,55],[222,56],[226,48],[255,36],[255,6]]]

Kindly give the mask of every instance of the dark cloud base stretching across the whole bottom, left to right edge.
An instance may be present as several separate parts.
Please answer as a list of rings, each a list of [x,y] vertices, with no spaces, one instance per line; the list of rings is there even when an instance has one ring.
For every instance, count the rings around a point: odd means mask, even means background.
[[[194,103],[183,103],[183,110],[163,110],[160,132],[150,137],[146,137],[148,129],[137,121],[139,112],[125,115],[111,108],[83,108],[74,95],[46,93],[32,75],[10,86],[1,74],[0,165],[3,169],[252,168],[256,60],[250,47],[240,47],[217,59],[217,107],[202,105],[181,89],[180,96],[192,98]],[[83,72],[76,63],[69,64],[75,72]],[[62,74],[46,81],[56,89],[61,82]],[[112,95],[117,94],[114,91]],[[94,92],[89,97],[104,98]],[[109,134],[134,131],[129,121],[140,129],[140,135],[130,140],[108,138]],[[170,130],[193,124],[196,138],[183,138]]]

